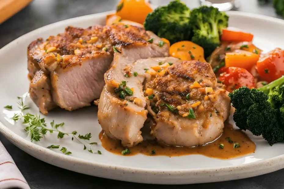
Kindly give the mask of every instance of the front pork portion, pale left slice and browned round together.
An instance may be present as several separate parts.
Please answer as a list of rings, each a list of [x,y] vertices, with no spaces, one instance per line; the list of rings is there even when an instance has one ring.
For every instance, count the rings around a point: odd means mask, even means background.
[[[115,77],[108,71],[100,97],[99,123],[109,137],[127,147],[143,141],[140,128],[147,118],[146,109],[156,122],[151,134],[167,145],[202,145],[223,132],[230,98],[217,87],[208,63],[173,57],[124,62],[115,62]]]

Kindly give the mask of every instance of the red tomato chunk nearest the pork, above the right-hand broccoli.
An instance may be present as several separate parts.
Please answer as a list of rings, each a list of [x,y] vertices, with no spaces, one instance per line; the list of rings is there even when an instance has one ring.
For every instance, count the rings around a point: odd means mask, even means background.
[[[221,72],[219,80],[226,86],[226,90],[229,92],[233,92],[234,89],[242,86],[250,89],[255,87],[253,75],[244,68],[221,68],[219,72]]]

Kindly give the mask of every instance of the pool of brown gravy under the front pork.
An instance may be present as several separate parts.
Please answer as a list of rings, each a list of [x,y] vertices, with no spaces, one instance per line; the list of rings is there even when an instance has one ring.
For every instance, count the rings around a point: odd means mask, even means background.
[[[230,137],[231,141],[237,142],[239,147],[234,148],[234,144],[230,143],[227,137]],[[121,152],[125,150],[119,140],[114,140],[107,137],[103,130],[100,132],[99,138],[104,149],[109,152],[112,152],[116,155],[122,155]],[[221,149],[219,144],[224,144],[224,148]],[[223,134],[217,140],[203,146],[191,148],[176,147],[158,144],[158,142],[155,140],[146,140],[134,147],[129,148],[131,153],[127,155],[152,155],[151,153],[153,149],[155,150],[155,155],[166,155],[169,157],[200,154],[211,158],[229,159],[254,153],[255,144],[244,132],[241,130],[234,130],[231,124],[225,123]]]

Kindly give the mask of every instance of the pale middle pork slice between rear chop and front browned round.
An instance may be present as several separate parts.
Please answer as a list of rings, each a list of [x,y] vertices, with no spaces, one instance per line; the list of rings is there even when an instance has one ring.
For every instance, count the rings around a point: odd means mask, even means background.
[[[112,67],[105,74],[106,85],[100,96],[98,119],[108,137],[131,147],[143,141],[140,129],[148,112],[143,93],[144,75],[136,76],[134,72],[125,70],[126,66],[138,59],[168,56],[169,46],[160,42],[161,39],[152,32],[141,28],[136,28],[127,39],[122,35],[125,32],[129,31],[122,28],[110,31],[111,39],[118,45]],[[151,38],[153,43],[147,41]],[[129,90],[132,92],[127,94]]]

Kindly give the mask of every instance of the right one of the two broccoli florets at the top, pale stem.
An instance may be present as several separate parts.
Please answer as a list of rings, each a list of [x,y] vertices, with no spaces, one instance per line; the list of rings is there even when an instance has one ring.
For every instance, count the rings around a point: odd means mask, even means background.
[[[200,6],[192,9],[190,25],[193,28],[192,42],[204,49],[208,57],[220,45],[222,29],[228,27],[229,17],[213,6]]]

